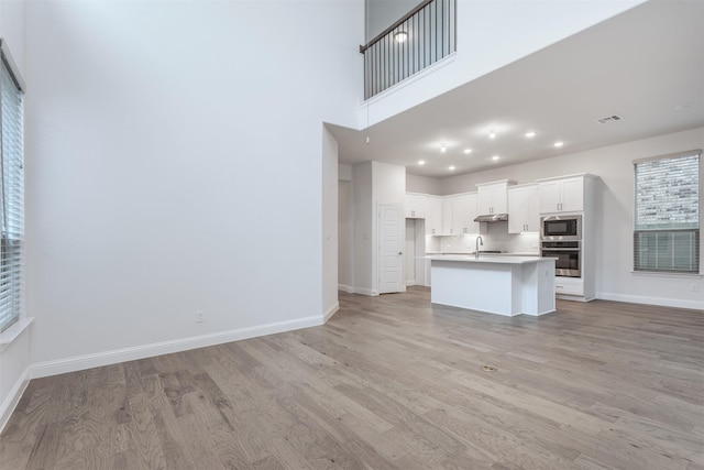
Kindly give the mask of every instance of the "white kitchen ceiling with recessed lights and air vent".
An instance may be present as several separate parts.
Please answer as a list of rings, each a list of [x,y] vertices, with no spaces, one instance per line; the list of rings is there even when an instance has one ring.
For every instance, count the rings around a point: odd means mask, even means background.
[[[447,177],[702,127],[703,32],[704,1],[644,3],[369,129],[329,125],[339,161]]]

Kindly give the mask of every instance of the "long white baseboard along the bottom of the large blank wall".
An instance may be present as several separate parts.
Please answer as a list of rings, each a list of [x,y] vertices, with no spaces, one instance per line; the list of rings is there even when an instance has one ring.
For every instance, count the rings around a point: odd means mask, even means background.
[[[30,367],[30,378],[38,379],[67,372],[76,372],[85,369],[151,358],[154,356],[169,354],[173,352],[187,351],[189,349],[221,345],[223,342],[239,341],[243,339],[255,338],[265,335],[274,335],[284,331],[292,331],[301,328],[310,328],[323,324],[324,319],[322,316],[305,317],[298,318],[296,320],[277,321],[255,327],[216,332],[212,335],[202,335],[190,338],[176,339],[172,341],[162,341],[151,345],[136,346],[133,348],[116,349],[112,351],[105,351],[95,354],[76,356],[73,358],[59,359],[55,361],[40,362]]]

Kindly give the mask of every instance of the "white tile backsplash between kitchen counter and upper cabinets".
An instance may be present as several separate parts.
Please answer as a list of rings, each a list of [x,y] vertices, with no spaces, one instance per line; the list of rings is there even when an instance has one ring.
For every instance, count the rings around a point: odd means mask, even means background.
[[[508,233],[508,222],[486,223],[486,232],[482,233],[484,245],[480,250],[497,250],[509,253],[540,252],[540,234],[538,232]],[[484,228],[482,228],[484,231]],[[428,252],[474,252],[476,243],[475,234],[426,237],[426,251]]]

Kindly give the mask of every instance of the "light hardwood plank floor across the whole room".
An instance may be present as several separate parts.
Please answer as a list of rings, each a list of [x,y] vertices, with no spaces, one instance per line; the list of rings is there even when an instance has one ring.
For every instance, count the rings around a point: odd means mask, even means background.
[[[507,318],[424,287],[340,306],[322,327],[33,380],[0,468],[704,469],[702,311]]]

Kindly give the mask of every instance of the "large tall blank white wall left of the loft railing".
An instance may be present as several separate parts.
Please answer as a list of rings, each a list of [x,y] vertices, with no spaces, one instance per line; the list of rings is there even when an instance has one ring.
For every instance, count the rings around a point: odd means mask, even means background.
[[[321,123],[356,119],[362,25],[362,0],[28,3],[37,375],[322,319]]]

